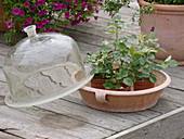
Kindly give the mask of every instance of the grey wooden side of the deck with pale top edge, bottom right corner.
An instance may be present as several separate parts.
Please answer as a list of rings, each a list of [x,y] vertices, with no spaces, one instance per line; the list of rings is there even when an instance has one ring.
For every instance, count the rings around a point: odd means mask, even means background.
[[[150,119],[107,139],[183,139],[184,106]]]

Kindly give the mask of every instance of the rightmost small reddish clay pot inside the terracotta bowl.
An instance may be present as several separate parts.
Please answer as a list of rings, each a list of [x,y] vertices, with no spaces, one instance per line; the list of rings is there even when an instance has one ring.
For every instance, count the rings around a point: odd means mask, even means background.
[[[152,81],[135,81],[134,83],[134,90],[145,90],[145,89],[149,89],[153,88],[155,86],[154,83]]]

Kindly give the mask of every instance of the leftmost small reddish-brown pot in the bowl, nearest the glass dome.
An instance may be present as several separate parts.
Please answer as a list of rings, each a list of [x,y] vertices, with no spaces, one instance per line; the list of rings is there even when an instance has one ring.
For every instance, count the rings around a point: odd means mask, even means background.
[[[106,79],[92,78],[91,79],[91,87],[97,88],[97,89],[105,89],[105,87],[103,86],[105,83],[106,83]]]

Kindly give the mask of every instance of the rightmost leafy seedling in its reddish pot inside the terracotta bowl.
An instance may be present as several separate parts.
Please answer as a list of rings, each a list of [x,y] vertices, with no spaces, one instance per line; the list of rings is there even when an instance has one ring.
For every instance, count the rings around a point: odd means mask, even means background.
[[[131,45],[130,51],[132,59],[130,61],[130,70],[136,80],[134,81],[134,90],[144,90],[153,88],[157,81],[155,71],[161,71],[168,66],[176,66],[178,62],[171,60],[171,55],[165,61],[155,62],[155,56],[159,50],[165,51],[157,43],[158,39],[154,38],[156,31],[150,31],[147,36],[141,34],[137,38],[135,35],[130,37],[135,43]]]

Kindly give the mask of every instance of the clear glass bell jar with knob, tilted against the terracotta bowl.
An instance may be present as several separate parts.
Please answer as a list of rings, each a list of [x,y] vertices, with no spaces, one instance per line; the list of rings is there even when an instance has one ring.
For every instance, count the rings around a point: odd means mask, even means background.
[[[5,103],[31,106],[67,96],[92,76],[83,66],[76,41],[58,33],[36,34],[36,26],[24,29],[28,37],[6,54],[3,72],[10,88]]]

